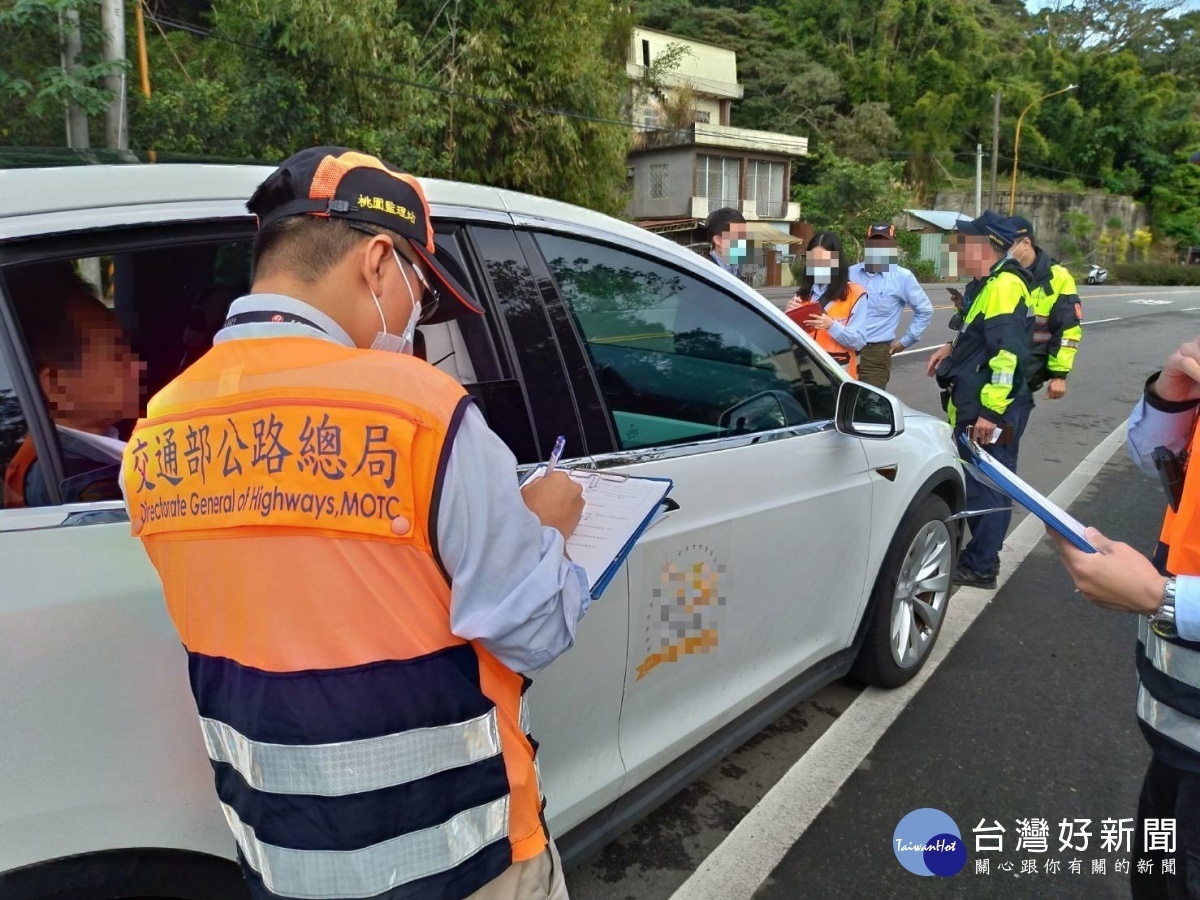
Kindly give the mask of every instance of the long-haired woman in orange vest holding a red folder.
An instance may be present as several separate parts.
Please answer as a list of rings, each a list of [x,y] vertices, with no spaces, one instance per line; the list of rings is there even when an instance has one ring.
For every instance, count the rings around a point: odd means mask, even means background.
[[[858,352],[866,344],[866,292],[850,280],[850,265],[841,241],[833,232],[812,235],[804,251],[804,277],[788,304],[794,310],[803,302],[817,301],[823,312],[804,323],[805,330],[821,348],[858,378]]]

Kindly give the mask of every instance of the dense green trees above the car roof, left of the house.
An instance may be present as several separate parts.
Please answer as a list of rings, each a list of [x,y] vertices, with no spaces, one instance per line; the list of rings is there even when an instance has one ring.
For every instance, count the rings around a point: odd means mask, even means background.
[[[630,18],[607,0],[216,0],[211,23],[209,37],[151,42],[137,146],[276,160],[341,144],[420,174],[624,206]]]

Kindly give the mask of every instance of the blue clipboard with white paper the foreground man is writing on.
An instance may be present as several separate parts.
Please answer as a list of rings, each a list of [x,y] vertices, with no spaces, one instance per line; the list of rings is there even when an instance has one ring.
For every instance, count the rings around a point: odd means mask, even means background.
[[[538,466],[521,484],[529,484],[545,472],[545,466]],[[592,599],[596,600],[642,535],[667,512],[679,509],[679,504],[667,498],[674,481],[588,468],[559,467],[558,472],[583,487],[583,517],[566,540],[566,553],[587,572]]]

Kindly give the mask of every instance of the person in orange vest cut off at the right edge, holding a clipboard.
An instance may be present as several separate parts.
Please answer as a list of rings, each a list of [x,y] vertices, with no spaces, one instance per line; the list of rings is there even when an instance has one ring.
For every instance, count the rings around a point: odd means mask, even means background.
[[[1172,353],[1146,383],[1129,418],[1129,455],[1147,474],[1164,479],[1170,506],[1154,562],[1128,544],[1087,530],[1099,553],[1085,553],[1056,534],[1063,564],[1088,600],[1145,618],[1138,631],[1138,724],[1153,752],[1138,829],[1147,818],[1176,820],[1176,874],[1130,869],[1135,900],[1200,898],[1200,478],[1187,458],[1200,437],[1200,338]],[[1157,464],[1156,464],[1157,461]],[[1154,853],[1142,853],[1153,858]]]

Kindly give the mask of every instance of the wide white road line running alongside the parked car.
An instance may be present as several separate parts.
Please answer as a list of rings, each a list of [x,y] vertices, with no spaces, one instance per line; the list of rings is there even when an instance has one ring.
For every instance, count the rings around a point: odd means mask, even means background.
[[[1060,506],[1069,506],[1124,442],[1127,425],[1122,422],[1104,438],[1062,480],[1050,499]],[[997,590],[1044,534],[1045,528],[1036,516],[1026,516],[1013,530],[1000,554]],[[995,593],[978,588],[959,589],[950,600],[937,644],[917,677],[895,690],[864,690],[700,864],[672,900],[749,900],[937,671]]]

